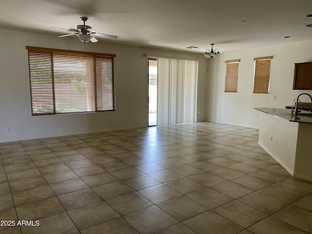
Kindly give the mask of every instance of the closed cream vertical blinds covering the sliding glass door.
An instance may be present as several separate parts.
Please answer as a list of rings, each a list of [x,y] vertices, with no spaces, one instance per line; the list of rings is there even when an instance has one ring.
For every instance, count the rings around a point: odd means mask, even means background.
[[[196,121],[198,61],[157,59],[157,126]]]

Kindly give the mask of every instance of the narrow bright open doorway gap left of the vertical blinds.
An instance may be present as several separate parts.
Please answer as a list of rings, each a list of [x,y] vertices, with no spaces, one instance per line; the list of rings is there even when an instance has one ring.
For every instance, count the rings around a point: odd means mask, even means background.
[[[148,126],[157,124],[157,59],[148,59]]]

